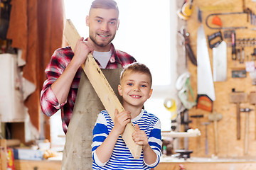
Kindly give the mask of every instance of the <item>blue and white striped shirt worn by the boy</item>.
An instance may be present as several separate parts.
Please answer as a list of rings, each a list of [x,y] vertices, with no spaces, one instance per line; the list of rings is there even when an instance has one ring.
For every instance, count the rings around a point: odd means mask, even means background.
[[[125,145],[124,140],[122,140],[121,135],[119,135],[117,142],[114,146],[114,150],[108,162],[102,163],[97,159],[97,154],[95,150],[99,147],[102,142],[106,139],[107,135],[110,133],[112,128],[114,128],[114,123],[110,118],[107,111],[102,111],[98,115],[97,122],[95,123],[95,128],[93,129],[93,139],[92,139],[92,168],[93,169],[150,169],[154,168],[159,164],[161,157],[161,122],[159,118],[151,113],[147,113],[142,109],[142,112],[134,119],[132,123],[138,124],[140,130],[146,132],[148,137],[149,145],[151,149],[156,153],[157,159],[154,164],[148,165],[144,162],[144,154],[142,154],[139,159],[134,159],[127,145]]]

